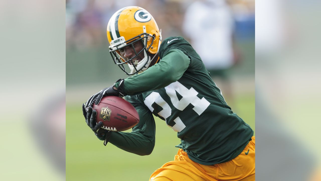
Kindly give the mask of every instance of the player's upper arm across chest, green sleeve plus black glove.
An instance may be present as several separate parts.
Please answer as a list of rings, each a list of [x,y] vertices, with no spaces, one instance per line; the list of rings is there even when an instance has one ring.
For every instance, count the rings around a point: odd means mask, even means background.
[[[145,91],[160,89],[180,79],[190,64],[190,58],[181,50],[172,49],[166,52],[159,63],[140,74],[125,80],[119,79],[115,85],[92,95],[85,107],[97,105],[103,96],[136,95]]]

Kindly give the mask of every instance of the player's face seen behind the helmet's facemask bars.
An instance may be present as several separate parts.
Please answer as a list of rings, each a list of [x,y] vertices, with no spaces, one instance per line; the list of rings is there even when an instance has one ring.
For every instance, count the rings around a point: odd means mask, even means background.
[[[143,43],[141,41],[134,42],[133,45],[135,50],[131,45],[128,45],[128,46],[125,46],[124,48],[119,49],[120,55],[124,57],[126,61],[136,56],[136,53],[140,52],[144,48]],[[135,62],[136,60],[138,60],[138,62],[140,62],[143,60],[143,58],[144,58],[144,51],[138,54],[132,61]],[[128,63],[132,64],[132,62],[130,61]]]

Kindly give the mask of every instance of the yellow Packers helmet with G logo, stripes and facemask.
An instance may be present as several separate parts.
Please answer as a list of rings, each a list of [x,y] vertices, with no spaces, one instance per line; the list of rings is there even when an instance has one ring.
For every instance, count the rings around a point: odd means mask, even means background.
[[[145,71],[159,59],[157,53],[161,43],[160,30],[152,15],[141,7],[128,6],[113,14],[107,25],[107,38],[111,57],[127,75]],[[136,55],[126,60],[119,49],[125,46],[132,46],[134,49],[133,43],[137,41],[143,43],[143,49],[134,51]],[[144,58],[140,62],[137,59],[133,61],[142,52]],[[124,64],[128,65],[129,70]]]

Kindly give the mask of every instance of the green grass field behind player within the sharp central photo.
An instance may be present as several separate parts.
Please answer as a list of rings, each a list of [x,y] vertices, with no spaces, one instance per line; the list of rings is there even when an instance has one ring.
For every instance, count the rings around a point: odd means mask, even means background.
[[[236,96],[235,111],[255,129],[254,94]],[[138,156],[108,143],[105,147],[82,116],[81,104],[66,106],[66,180],[148,180],[154,170],[174,159],[180,143],[176,132],[156,118],[151,155]]]

